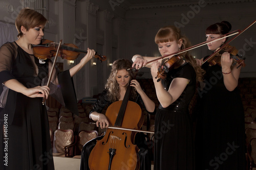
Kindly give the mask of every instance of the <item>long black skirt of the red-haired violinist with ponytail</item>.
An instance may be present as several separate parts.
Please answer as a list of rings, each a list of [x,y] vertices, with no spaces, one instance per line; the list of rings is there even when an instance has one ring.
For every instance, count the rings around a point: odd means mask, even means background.
[[[157,109],[155,117],[155,170],[194,169],[194,142],[187,112]]]

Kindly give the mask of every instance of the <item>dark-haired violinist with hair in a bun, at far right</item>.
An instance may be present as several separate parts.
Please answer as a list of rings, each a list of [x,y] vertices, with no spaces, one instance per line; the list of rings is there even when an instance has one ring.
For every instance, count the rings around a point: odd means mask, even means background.
[[[206,39],[219,37],[230,30],[231,25],[227,21],[215,23],[206,29]],[[210,42],[208,49],[216,51],[226,40]],[[233,59],[227,52],[220,57],[221,65],[202,64],[205,85],[199,91],[196,130],[196,169],[199,170],[245,169],[244,111],[237,89],[241,67],[232,65]]]

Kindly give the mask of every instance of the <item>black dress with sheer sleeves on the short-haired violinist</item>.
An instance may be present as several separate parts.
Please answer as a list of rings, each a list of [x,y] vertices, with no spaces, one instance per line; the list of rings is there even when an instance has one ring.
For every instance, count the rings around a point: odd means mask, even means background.
[[[0,48],[0,82],[16,79],[28,88],[40,86],[48,76],[49,60],[39,60],[26,53],[16,42]],[[50,93],[59,96],[60,103],[78,114],[75,93],[69,70],[64,71],[50,85]],[[56,78],[54,80],[54,78]],[[61,87],[61,88],[59,88]],[[54,169],[49,123],[42,98],[29,98],[6,87],[0,89],[0,169]],[[3,98],[3,94],[7,98]],[[62,95],[65,96],[62,98]],[[5,101],[5,102],[3,102]],[[75,106],[75,107],[74,107]],[[3,124],[6,125],[3,134]]]

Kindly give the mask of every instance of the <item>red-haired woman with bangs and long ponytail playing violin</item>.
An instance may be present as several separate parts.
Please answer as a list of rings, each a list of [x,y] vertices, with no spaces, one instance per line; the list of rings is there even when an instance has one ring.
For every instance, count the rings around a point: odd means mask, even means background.
[[[161,56],[173,54],[189,47],[186,37],[174,26],[161,28],[155,42]],[[176,57],[170,56],[169,58]],[[133,66],[140,68],[155,57],[133,57]],[[195,90],[200,68],[187,52],[166,78],[157,81],[155,77],[161,66],[153,62],[151,74],[160,106],[155,117],[154,169],[194,169],[194,143],[188,105]],[[148,66],[150,66],[148,65]]]

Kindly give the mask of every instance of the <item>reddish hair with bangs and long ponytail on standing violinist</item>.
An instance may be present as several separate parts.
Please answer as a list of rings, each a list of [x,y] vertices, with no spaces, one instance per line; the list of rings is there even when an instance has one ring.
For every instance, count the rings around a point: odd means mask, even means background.
[[[184,50],[185,48],[188,48],[188,47],[191,46],[190,41],[187,39],[187,37],[184,36],[184,35],[181,35],[180,29],[176,28],[175,26],[167,26],[167,27],[161,28],[157,32],[157,35],[155,37],[155,43],[159,44],[159,43],[162,43],[162,42],[169,42],[169,41],[176,41],[178,43],[178,41],[180,39],[182,39],[182,45],[181,45],[180,50]],[[202,75],[203,70],[200,66],[197,65],[197,62],[193,58],[193,56],[191,56],[188,52],[184,52],[181,55],[195,69],[196,74],[197,74],[197,81],[202,81],[202,79],[203,79],[203,75]],[[181,60],[180,62],[182,62],[182,61],[183,60]]]

